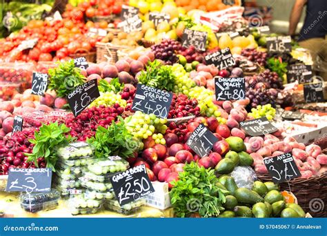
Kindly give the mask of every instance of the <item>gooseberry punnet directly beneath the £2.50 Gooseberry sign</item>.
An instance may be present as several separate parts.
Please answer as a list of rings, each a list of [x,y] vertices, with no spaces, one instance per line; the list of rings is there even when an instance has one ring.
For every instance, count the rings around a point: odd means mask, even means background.
[[[137,211],[141,206],[145,204],[146,204],[145,199],[138,199],[136,201],[132,201],[128,204],[120,206],[117,200],[112,199],[112,200],[106,200],[103,205],[106,210],[113,210],[123,215],[129,215]]]

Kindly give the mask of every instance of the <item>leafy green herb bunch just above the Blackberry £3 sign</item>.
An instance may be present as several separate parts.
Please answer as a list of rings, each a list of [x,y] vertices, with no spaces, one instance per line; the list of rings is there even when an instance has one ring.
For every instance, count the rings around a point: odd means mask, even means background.
[[[70,131],[70,128],[61,124],[58,126],[58,122],[46,125],[43,124],[39,132],[34,132],[34,139],[30,139],[30,143],[34,144],[32,153],[24,153],[28,156],[27,161],[34,161],[35,166],[38,166],[37,159],[44,157],[46,160],[46,167],[52,168],[55,171],[54,166],[58,160],[56,148],[59,145],[68,144],[73,141],[73,138],[66,133]]]

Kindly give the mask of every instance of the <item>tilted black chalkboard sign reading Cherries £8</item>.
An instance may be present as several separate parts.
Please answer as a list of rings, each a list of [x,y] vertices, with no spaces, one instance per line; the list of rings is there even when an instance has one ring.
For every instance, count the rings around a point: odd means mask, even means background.
[[[77,117],[85,108],[100,97],[97,79],[92,79],[81,86],[77,86],[68,95],[68,103],[72,113]]]

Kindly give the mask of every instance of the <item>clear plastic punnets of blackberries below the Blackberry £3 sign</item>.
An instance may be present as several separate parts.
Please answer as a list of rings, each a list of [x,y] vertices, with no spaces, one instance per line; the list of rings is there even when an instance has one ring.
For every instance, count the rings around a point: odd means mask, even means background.
[[[60,193],[52,189],[49,193],[23,193],[19,196],[21,208],[37,213],[40,210],[51,210],[57,208]]]

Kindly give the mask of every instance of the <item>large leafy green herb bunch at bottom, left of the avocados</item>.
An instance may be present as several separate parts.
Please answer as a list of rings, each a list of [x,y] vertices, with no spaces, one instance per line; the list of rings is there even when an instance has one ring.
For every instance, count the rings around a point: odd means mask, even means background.
[[[226,198],[226,190],[218,188],[215,170],[207,170],[191,162],[179,173],[179,180],[172,181],[171,204],[177,217],[190,217],[199,213],[201,217],[217,217]]]

